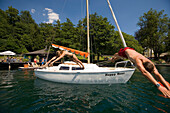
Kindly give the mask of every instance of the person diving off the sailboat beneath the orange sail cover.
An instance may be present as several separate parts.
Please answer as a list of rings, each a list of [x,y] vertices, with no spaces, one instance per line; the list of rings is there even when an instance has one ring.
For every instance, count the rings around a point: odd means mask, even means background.
[[[69,57],[72,61],[74,61],[75,63],[77,63],[81,68],[84,69],[84,65],[83,63],[76,57],[75,54],[70,53],[68,51],[64,51],[64,50],[58,50],[56,51],[56,56],[54,56],[51,60],[49,60],[44,67],[49,66],[53,66],[53,63],[60,60],[61,58],[63,58],[64,56]]]

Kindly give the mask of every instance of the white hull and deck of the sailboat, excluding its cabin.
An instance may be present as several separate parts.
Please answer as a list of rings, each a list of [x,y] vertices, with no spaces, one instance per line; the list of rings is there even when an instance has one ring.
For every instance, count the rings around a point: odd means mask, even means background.
[[[37,69],[38,78],[60,83],[73,84],[113,84],[126,83],[134,73],[132,68],[100,68],[76,71],[57,70],[57,66],[47,69]]]

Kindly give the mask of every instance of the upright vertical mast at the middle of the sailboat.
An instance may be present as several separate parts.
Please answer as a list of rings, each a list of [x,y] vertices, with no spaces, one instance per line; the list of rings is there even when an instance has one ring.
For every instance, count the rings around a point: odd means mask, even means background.
[[[88,52],[88,61],[90,64],[90,38],[89,38],[89,1],[86,0],[86,9],[87,9],[87,52]]]

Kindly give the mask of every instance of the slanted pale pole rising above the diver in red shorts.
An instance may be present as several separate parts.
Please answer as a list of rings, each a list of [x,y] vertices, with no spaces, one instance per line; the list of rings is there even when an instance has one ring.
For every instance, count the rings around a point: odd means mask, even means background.
[[[110,8],[110,10],[111,10],[112,16],[113,16],[114,21],[115,21],[115,23],[116,23],[116,26],[117,26],[117,28],[118,28],[118,31],[119,31],[121,40],[122,40],[122,42],[123,42],[123,46],[124,46],[124,47],[127,47],[126,42],[125,42],[125,40],[124,40],[124,37],[123,37],[123,35],[122,35],[122,32],[121,32],[121,30],[120,30],[120,27],[119,27],[119,25],[118,25],[116,16],[115,16],[115,14],[114,14],[114,12],[113,12],[113,9],[112,9],[112,7],[111,7],[111,5],[110,5],[109,0],[107,0],[107,3],[109,4],[109,8]]]

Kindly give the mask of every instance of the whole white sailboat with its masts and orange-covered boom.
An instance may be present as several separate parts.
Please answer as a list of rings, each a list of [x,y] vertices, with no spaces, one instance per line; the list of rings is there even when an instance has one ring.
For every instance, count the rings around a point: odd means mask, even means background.
[[[117,24],[116,17],[114,16],[109,0],[107,0],[111,9],[113,18],[118,27],[121,39],[124,47],[126,43],[124,41],[121,30]],[[88,14],[88,0],[86,0],[87,6],[87,53],[70,49],[67,47],[52,44],[53,47],[74,51],[80,55],[88,57],[88,62],[83,63],[84,69],[80,68],[76,63],[66,61],[58,66],[47,67],[44,69],[36,69],[35,76],[44,80],[59,82],[59,83],[71,83],[71,84],[114,84],[114,83],[126,83],[133,75],[135,68],[127,68],[126,65],[129,61],[117,62],[115,67],[99,67],[96,64],[90,63],[90,43],[89,43],[89,14]],[[125,66],[117,67],[119,63],[124,63]]]

